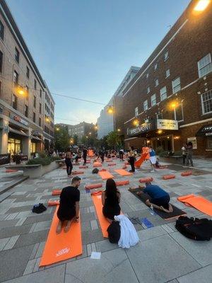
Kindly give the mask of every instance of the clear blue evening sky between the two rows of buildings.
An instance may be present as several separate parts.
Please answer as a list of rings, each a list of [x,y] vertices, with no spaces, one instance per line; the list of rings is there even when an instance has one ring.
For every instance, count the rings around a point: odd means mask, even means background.
[[[52,93],[105,103],[190,0],[7,0]],[[96,122],[101,105],[53,96],[55,122]]]

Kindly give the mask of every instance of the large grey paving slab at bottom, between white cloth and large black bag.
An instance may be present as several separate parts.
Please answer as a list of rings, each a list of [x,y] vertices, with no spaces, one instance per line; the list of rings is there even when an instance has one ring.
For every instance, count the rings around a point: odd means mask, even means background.
[[[168,235],[141,241],[126,254],[141,283],[167,282],[201,267]]]

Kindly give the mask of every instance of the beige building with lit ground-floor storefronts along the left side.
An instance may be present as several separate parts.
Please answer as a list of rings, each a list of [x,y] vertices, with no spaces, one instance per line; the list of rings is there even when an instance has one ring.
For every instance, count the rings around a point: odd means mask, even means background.
[[[30,157],[44,148],[43,136],[54,137],[54,125],[45,130],[45,93],[54,124],[54,100],[28,50],[6,1],[0,1],[0,154]],[[51,108],[52,105],[52,108]],[[51,132],[50,132],[51,131]]]

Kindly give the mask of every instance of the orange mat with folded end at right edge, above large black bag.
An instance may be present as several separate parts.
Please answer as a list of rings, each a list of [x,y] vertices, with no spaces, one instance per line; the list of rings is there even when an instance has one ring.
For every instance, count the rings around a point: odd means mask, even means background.
[[[196,195],[183,195],[182,197],[177,197],[179,202],[184,202],[185,205],[189,207],[194,207],[200,212],[212,216],[212,202],[206,200],[204,197]]]

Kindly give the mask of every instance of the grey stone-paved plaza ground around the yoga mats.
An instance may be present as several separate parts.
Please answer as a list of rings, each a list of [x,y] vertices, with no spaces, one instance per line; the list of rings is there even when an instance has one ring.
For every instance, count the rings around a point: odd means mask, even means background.
[[[139,178],[153,176],[153,183],[170,192],[171,203],[188,216],[210,218],[178,202],[177,197],[194,193],[212,201],[211,160],[196,159],[194,174],[188,177],[180,175],[186,168],[174,165],[150,173],[148,163],[133,176],[122,177],[114,172],[114,168],[122,168],[122,163],[115,162],[116,166],[109,167],[106,162],[103,166],[109,168],[114,180],[130,180],[130,186],[136,187]],[[182,236],[175,229],[175,219],[165,221],[158,215],[151,215],[148,207],[128,191],[129,185],[119,187],[122,212],[129,217],[146,217],[153,228],[143,229],[136,224],[140,243],[129,250],[118,248],[103,238],[93,201],[84,186],[105,181],[99,175],[92,175],[92,165],[83,170],[80,186],[83,255],[38,267],[55,207],[47,207],[42,214],[33,214],[31,209],[33,204],[43,202],[47,206],[48,200],[58,199],[58,196],[52,197],[52,190],[70,184],[66,171],[59,168],[42,178],[27,179],[16,185],[7,191],[5,200],[0,203],[0,282],[211,282],[212,241],[198,242]],[[162,180],[162,175],[167,173],[175,173],[176,178]],[[92,251],[101,252],[100,260],[90,259]]]

